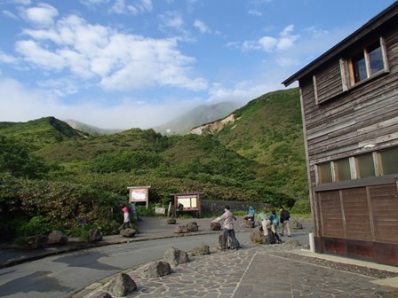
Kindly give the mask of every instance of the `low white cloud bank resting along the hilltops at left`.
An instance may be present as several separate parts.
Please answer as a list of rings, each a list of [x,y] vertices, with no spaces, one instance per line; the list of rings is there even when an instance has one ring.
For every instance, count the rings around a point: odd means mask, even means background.
[[[58,83],[53,82],[53,86],[56,87]],[[1,77],[0,98],[7,99],[0,101],[0,119],[3,122],[28,122],[54,116],[60,120],[74,119],[104,129],[149,129],[193,107],[191,103],[177,99],[154,105],[139,102],[139,98],[123,98],[115,106],[104,105],[107,100],[102,98],[67,105],[43,90],[28,90],[15,80]]]

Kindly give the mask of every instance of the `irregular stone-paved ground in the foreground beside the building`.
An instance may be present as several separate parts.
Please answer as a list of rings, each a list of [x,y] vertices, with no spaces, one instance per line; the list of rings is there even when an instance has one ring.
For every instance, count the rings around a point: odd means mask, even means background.
[[[128,271],[138,286],[129,297],[398,297],[398,285],[378,286],[371,282],[375,277],[334,265],[303,262],[285,253],[283,246],[213,252],[191,257],[190,263],[173,267],[171,275],[162,278],[141,278],[145,265]]]

